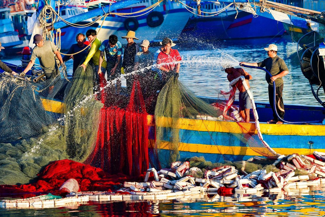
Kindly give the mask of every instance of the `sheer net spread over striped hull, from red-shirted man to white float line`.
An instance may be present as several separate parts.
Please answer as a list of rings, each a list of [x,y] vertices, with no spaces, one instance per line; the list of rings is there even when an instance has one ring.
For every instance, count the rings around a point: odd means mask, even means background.
[[[195,152],[204,152],[199,150],[200,147],[215,153],[214,162],[231,160],[228,154],[258,153],[270,159],[279,156],[263,140],[256,112],[251,122],[242,120],[238,106],[234,104],[236,82],[241,80],[234,81],[229,92],[216,93],[218,99],[211,105],[195,96],[178,79],[168,80],[159,93],[155,108],[157,149],[164,166],[183,160],[180,151],[193,156]]]

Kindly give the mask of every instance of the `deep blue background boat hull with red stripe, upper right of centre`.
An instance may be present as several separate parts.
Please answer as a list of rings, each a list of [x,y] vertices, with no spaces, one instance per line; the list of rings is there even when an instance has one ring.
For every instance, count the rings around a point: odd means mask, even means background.
[[[198,9],[196,2],[187,1],[187,5]],[[275,37],[282,36],[284,27],[281,22],[268,19],[262,16],[254,17],[253,14],[238,10],[238,12],[220,3],[201,2],[201,15],[210,16],[202,17],[191,14],[182,34],[182,39],[204,38],[204,40],[227,40],[227,39],[245,39],[257,37]],[[211,16],[216,13],[218,15]],[[237,16],[237,19],[235,17]]]

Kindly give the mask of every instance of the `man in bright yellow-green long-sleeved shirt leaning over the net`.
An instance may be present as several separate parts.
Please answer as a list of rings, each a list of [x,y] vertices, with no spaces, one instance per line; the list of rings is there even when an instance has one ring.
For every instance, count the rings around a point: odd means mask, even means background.
[[[85,62],[83,64],[81,64],[79,67],[83,67],[84,70],[86,70],[86,66],[88,65],[89,61],[92,60],[93,64],[94,64],[94,71],[98,72],[99,69],[99,57],[100,57],[100,51],[99,51],[99,47],[101,45],[100,40],[96,37],[97,36],[97,32],[95,29],[88,29],[86,32],[86,36],[88,38],[88,41],[91,43],[91,48],[89,49],[89,53],[85,59]],[[105,58],[103,58],[103,62],[101,63],[101,68],[100,68],[101,72],[105,74],[106,72],[106,61]],[[99,77],[98,77],[98,73],[96,74],[96,86],[99,84]]]

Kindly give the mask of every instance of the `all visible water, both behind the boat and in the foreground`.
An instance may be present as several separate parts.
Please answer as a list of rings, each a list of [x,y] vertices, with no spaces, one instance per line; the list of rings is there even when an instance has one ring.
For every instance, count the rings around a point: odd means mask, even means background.
[[[267,58],[266,47],[270,43],[278,45],[278,55],[284,59],[290,74],[283,78],[283,100],[287,104],[318,105],[314,99],[308,80],[303,76],[296,55],[296,44],[291,38],[279,40],[265,39],[253,43],[214,45],[204,42],[178,43],[175,47],[183,58],[179,80],[195,94],[216,97],[217,90],[228,90],[229,82],[221,65],[235,65],[239,61],[260,62]],[[157,48],[150,48],[156,51]],[[20,57],[3,59],[20,64]],[[67,62],[68,73],[72,73],[72,61]],[[250,85],[255,101],[268,102],[267,83],[264,71],[245,68],[253,77]],[[125,85],[125,81],[122,83]],[[321,97],[324,93],[321,90]],[[0,210],[0,216],[324,216],[325,186],[310,187],[303,191],[286,194],[259,195],[209,195],[200,199],[193,197],[182,200],[155,202],[114,202],[69,205],[48,209],[10,209]],[[0,199],[4,197],[0,195]]]

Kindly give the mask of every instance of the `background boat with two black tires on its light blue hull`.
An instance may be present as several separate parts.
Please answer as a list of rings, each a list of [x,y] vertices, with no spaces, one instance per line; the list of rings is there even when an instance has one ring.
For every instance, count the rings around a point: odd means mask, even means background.
[[[101,6],[109,7],[110,3],[113,4],[114,2],[116,1],[91,0],[87,3],[87,7],[88,10],[96,9]],[[129,7],[115,10],[114,12],[135,13],[155,3],[157,3],[157,0],[143,0]],[[126,15],[130,17],[108,16],[104,21],[98,37],[104,40],[107,39],[109,35],[115,34],[122,43],[126,44],[126,41],[121,39],[121,37],[125,36],[128,30],[132,30],[136,32],[136,37],[141,40],[147,39],[150,43],[161,41],[164,37],[177,40],[188,22],[190,13],[176,2],[164,1],[161,3],[161,6],[162,7],[156,7],[151,12],[138,17],[131,17],[131,15]],[[142,13],[135,15],[140,14]],[[98,26],[100,26],[102,22],[102,20],[99,20],[97,22]]]

